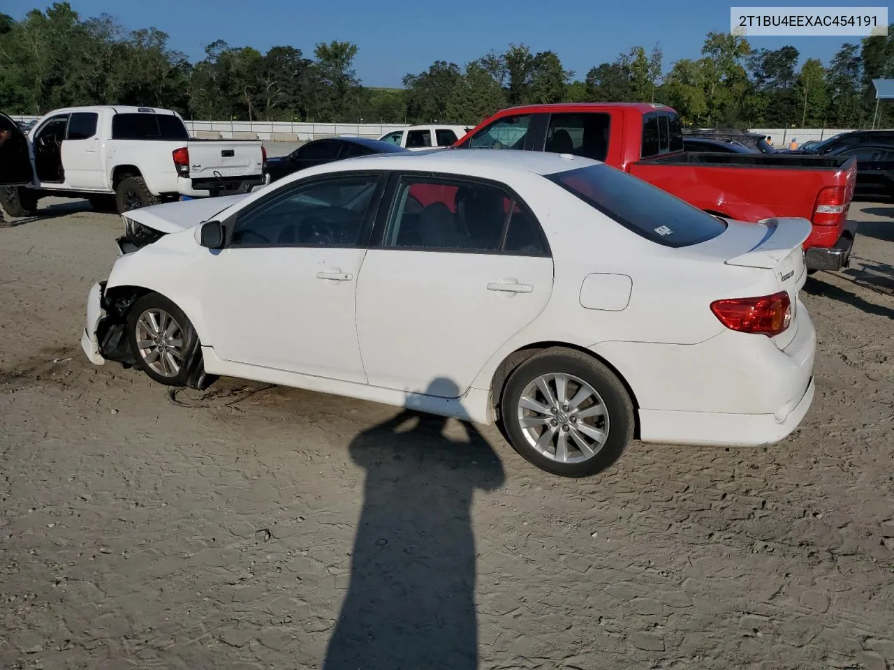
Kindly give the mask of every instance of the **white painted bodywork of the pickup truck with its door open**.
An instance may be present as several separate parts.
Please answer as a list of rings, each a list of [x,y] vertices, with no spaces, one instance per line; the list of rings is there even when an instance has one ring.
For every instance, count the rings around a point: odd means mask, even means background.
[[[122,114],[134,115],[127,118],[140,121],[160,118],[181,137],[116,137],[115,119],[121,117],[121,121]],[[75,120],[87,130],[75,134]],[[60,141],[46,150],[58,152],[62,180],[55,175],[47,178],[38,165],[43,149],[36,143],[43,141],[52,128],[59,129],[58,137],[53,133],[53,138]],[[57,109],[39,119],[28,131],[27,139],[32,168],[28,186],[39,189],[43,195],[111,196],[122,175],[141,177],[148,190],[159,197],[207,197],[266,181],[266,155],[260,141],[190,138],[181,116],[170,110],[127,106]],[[181,148],[188,151],[185,169],[178,169],[173,159],[173,151]]]

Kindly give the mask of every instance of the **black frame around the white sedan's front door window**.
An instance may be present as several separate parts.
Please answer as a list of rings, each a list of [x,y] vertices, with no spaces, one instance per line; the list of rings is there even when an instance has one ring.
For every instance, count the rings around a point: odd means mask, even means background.
[[[384,170],[350,170],[343,172],[327,172],[324,175],[316,174],[311,177],[306,177],[305,179],[291,181],[288,185],[283,185],[283,188],[277,188],[272,193],[266,194],[266,197],[258,198],[255,202],[253,202],[248,207],[244,209],[240,209],[239,212],[235,212],[228,216],[223,220],[223,230],[224,235],[226,237],[226,241],[224,242],[224,249],[283,249],[283,248],[302,248],[302,249],[366,249],[369,247],[370,236],[373,232],[373,226],[375,223],[375,214],[379,210],[381,205],[381,200],[384,195],[386,178],[388,176],[388,172]],[[308,186],[316,186],[316,184],[323,184],[327,181],[336,181],[336,180],[344,180],[344,179],[353,179],[358,177],[374,177],[377,180],[377,184],[375,186],[375,191],[373,193],[373,197],[369,201],[369,205],[367,205],[367,211],[363,214],[363,223],[360,226],[360,234],[358,236],[357,244],[333,244],[333,245],[318,245],[318,244],[301,244],[298,242],[293,243],[283,243],[283,242],[270,242],[270,243],[252,243],[252,244],[232,244],[232,234],[236,229],[236,223],[239,222],[241,216],[246,216],[251,214],[252,212],[256,212],[260,207],[264,206],[267,202],[269,202],[272,197],[282,197],[284,194],[289,193],[294,190],[298,190],[299,188],[306,188]]]

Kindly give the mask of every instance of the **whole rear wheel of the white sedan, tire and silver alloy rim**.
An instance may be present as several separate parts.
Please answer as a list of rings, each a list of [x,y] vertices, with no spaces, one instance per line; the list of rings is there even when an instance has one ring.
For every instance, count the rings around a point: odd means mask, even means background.
[[[611,465],[633,440],[627,389],[592,356],[550,348],[513,371],[501,401],[510,444],[548,473],[584,477]]]

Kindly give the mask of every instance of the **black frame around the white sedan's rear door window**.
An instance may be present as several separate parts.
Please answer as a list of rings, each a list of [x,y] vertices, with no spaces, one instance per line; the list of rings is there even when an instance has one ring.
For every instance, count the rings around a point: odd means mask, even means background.
[[[468,184],[478,184],[480,186],[499,188],[504,194],[510,197],[510,200],[519,205],[519,207],[525,214],[527,214],[528,217],[530,217],[530,220],[535,228],[535,233],[540,239],[541,245],[544,247],[544,252],[526,254],[519,251],[506,251],[504,249],[504,247],[506,246],[506,236],[509,233],[509,223],[512,220],[511,209],[509,213],[507,213],[506,221],[503,222],[503,227],[500,232],[500,248],[496,251],[490,251],[488,249],[456,249],[448,247],[386,247],[383,244],[385,230],[388,226],[388,222],[391,220],[392,211],[397,205],[398,190],[401,186],[401,181],[404,179],[437,180],[442,183],[458,183],[463,186]],[[483,177],[472,177],[469,175],[456,174],[453,172],[430,172],[422,170],[401,170],[392,172],[391,177],[388,180],[388,186],[387,188],[385,188],[384,197],[380,201],[378,211],[375,214],[375,227],[373,229],[372,238],[369,240],[369,248],[381,249],[383,251],[416,251],[431,254],[511,255],[534,258],[552,258],[552,248],[550,247],[549,240],[546,239],[546,235],[544,234],[544,227],[534,215],[534,212],[533,210],[531,210],[530,206],[527,205],[524,198],[520,197],[519,194],[508,184],[505,184],[502,181],[488,180]]]

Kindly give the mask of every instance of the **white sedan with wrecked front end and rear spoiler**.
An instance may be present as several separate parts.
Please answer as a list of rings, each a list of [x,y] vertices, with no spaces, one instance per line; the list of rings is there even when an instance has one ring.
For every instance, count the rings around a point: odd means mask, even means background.
[[[124,222],[81,343],[164,384],[499,422],[564,476],[635,437],[771,444],[814,397],[810,222],[722,220],[586,158],[367,156]]]

